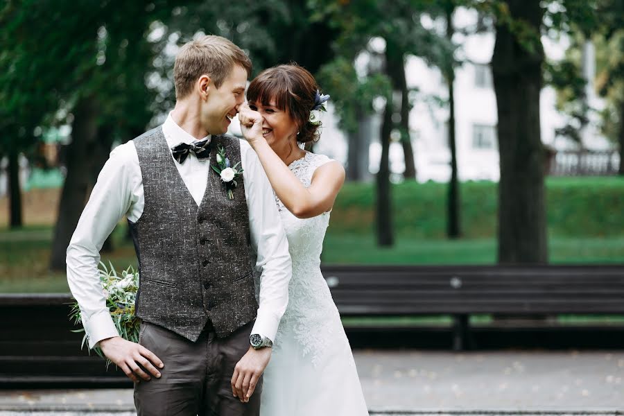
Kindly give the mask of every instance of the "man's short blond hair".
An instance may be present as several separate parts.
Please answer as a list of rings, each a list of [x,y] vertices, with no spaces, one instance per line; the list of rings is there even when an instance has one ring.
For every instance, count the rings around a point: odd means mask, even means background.
[[[225,37],[206,35],[187,42],[175,56],[173,65],[175,98],[180,100],[191,94],[202,75],[209,76],[214,86],[220,87],[234,65],[240,65],[250,75],[251,60],[239,46]]]

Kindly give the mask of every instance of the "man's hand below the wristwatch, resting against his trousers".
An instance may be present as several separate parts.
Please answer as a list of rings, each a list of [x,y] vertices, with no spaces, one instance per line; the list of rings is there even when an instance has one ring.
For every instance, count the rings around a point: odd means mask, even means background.
[[[261,349],[249,347],[248,352],[234,367],[234,374],[232,374],[232,394],[234,397],[238,397],[243,403],[249,401],[270,358],[270,347]]]

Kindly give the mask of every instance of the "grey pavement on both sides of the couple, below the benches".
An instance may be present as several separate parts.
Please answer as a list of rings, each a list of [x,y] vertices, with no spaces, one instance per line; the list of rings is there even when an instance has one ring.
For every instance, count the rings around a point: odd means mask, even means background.
[[[354,356],[371,414],[624,415],[622,351],[358,350]],[[125,416],[132,408],[129,389],[0,390],[2,416]]]

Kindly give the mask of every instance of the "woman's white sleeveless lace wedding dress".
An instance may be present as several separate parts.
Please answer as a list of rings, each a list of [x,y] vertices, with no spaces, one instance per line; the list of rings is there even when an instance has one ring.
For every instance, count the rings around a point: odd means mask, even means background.
[[[305,187],[327,156],[306,152],[288,166]],[[329,212],[300,219],[276,197],[293,259],[288,307],[264,372],[261,416],[368,415],[338,309],[320,271]]]

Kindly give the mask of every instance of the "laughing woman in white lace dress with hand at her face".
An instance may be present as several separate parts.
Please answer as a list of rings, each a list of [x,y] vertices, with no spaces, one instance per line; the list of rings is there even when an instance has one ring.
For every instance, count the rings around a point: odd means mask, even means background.
[[[300,146],[320,136],[315,113],[329,96],[306,69],[266,69],[239,108],[241,130],[275,191],[293,259],[288,307],[263,376],[261,416],[368,415],[338,309],[320,271],[329,212],[345,169]],[[234,394],[241,385],[232,381]],[[238,384],[241,384],[240,381]]]

